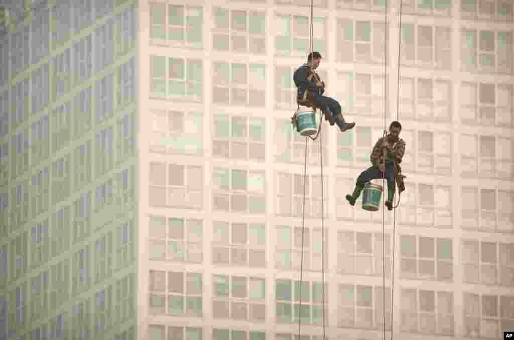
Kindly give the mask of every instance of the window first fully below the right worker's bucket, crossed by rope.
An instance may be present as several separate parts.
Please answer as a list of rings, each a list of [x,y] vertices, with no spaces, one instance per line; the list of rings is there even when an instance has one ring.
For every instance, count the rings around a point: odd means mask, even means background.
[[[382,276],[391,275],[391,235],[385,237],[386,258],[382,263],[384,238],[381,232],[338,232],[338,272],[343,275]]]

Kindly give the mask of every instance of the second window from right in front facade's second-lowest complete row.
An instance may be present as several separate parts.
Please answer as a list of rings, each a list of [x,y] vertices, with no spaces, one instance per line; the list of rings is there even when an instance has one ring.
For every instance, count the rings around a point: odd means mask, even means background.
[[[451,239],[401,235],[400,251],[402,278],[453,282]]]

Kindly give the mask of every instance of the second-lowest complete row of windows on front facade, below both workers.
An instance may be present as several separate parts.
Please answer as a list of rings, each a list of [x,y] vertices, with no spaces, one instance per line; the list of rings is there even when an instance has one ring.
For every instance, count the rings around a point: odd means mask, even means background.
[[[149,259],[182,263],[203,263],[206,252],[204,238],[211,235],[201,219],[151,216],[149,227]],[[336,232],[337,235],[333,235]],[[267,235],[271,233],[273,237]],[[322,259],[337,242],[338,257]],[[267,240],[276,240],[268,248]],[[303,247],[302,247],[303,241]],[[406,279],[453,282],[453,243],[448,238],[401,235],[400,277]],[[329,243],[332,244],[329,246]],[[392,240],[386,235],[386,276],[391,271]],[[302,262],[303,249],[303,262]],[[268,260],[268,252],[272,257]],[[465,267],[465,283],[514,285],[514,244],[462,239],[461,261]],[[381,276],[382,234],[349,230],[278,225],[266,232],[266,224],[212,221],[212,243],[209,245],[212,264],[264,268],[273,262],[278,270],[321,272],[335,268],[342,275]]]

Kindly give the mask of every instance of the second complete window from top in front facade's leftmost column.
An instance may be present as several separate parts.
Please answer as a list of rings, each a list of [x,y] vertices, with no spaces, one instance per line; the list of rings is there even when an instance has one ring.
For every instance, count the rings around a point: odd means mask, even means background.
[[[201,102],[202,61],[150,56],[151,97]]]

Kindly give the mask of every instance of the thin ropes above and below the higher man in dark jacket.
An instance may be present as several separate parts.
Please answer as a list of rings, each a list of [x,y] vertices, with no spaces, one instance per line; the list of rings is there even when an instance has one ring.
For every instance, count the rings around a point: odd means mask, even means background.
[[[313,53],[313,12],[314,5],[313,0],[310,0],[310,42],[309,42],[309,54]],[[300,107],[300,106],[298,106]],[[314,108],[313,108],[314,109]],[[314,109],[316,110],[316,109]],[[318,132],[315,137],[308,136],[311,140],[316,140],[321,137],[321,124],[323,123],[322,112],[320,110],[320,120],[318,126]],[[323,185],[323,139],[320,138],[320,163],[321,163],[321,295],[322,295],[322,319],[323,319],[323,337],[325,340],[325,209],[324,209],[324,185]],[[305,236],[305,190],[307,181],[307,142],[308,139],[305,137],[305,159],[303,168],[303,204],[302,204],[302,253],[300,260],[300,306],[298,309],[298,338],[300,340],[301,327],[302,327],[302,288],[303,288],[303,249],[304,249],[304,236]]]

